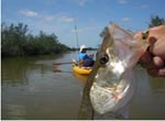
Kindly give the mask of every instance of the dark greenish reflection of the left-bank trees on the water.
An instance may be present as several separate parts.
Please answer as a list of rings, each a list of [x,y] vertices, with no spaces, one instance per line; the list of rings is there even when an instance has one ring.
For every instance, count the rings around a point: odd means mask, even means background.
[[[50,66],[52,67],[51,59],[53,62],[63,56],[3,58],[1,61],[1,84],[12,86],[28,85],[28,78],[32,70],[40,70],[41,74],[45,74],[50,69]]]

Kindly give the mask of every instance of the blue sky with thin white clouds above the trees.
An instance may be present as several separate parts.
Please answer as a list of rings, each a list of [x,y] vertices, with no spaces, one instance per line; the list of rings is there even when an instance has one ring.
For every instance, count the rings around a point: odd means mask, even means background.
[[[109,22],[133,32],[145,30],[152,15],[165,18],[165,0],[1,0],[1,22],[28,24],[33,35],[54,33],[69,47],[77,42],[97,47]]]

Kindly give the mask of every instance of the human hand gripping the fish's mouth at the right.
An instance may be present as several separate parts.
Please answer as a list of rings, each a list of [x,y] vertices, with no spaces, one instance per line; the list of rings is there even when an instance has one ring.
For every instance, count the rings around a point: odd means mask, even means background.
[[[151,28],[148,34],[148,50],[141,56],[139,63],[152,76],[165,76],[165,25]],[[139,32],[134,37],[142,36]]]

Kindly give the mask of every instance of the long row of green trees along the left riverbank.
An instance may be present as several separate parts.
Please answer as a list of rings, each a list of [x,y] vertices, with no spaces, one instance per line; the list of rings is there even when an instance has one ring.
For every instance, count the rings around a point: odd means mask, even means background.
[[[58,42],[55,34],[47,35],[42,31],[35,36],[28,34],[28,25],[23,23],[18,25],[2,23],[1,29],[2,57],[62,53],[69,50]]]

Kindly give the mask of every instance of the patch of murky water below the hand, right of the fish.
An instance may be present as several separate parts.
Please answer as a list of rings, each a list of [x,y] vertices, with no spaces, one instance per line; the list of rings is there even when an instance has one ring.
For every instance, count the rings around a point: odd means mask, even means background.
[[[130,119],[165,119],[165,78],[150,77],[142,67],[138,68],[136,74],[138,86],[130,103]]]

